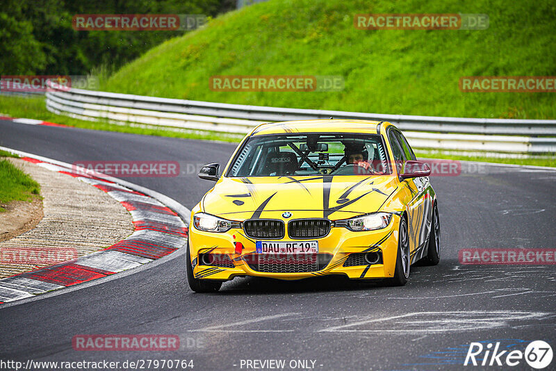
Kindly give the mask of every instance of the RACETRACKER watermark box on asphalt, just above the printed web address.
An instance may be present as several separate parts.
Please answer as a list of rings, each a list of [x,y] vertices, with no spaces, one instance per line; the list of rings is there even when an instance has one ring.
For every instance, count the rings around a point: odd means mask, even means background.
[[[72,347],[78,351],[174,351],[177,335],[76,335]]]

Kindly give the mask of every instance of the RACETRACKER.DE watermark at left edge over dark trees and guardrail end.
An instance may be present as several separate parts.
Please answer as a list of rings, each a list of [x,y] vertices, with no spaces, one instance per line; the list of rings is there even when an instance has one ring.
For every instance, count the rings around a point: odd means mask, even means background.
[[[47,81],[53,83],[51,88]],[[99,87],[96,76],[83,75],[3,75],[0,76],[0,92],[50,92],[70,88],[95,90]]]

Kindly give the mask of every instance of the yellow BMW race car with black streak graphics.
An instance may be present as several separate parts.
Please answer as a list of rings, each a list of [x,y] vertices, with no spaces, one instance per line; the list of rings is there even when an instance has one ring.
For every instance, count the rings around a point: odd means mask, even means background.
[[[389,122],[262,124],[238,145],[191,213],[188,283],[214,292],[234,277],[343,274],[401,286],[439,263],[430,168]]]

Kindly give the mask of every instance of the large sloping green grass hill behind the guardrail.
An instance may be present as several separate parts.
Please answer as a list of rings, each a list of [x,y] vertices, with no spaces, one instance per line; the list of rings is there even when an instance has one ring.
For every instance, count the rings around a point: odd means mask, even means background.
[[[486,13],[482,31],[368,31],[358,13]],[[556,75],[556,6],[506,0],[270,0],[167,40],[101,90],[234,104],[553,119],[555,93],[461,92],[461,76]],[[341,92],[220,92],[215,75],[338,75]]]

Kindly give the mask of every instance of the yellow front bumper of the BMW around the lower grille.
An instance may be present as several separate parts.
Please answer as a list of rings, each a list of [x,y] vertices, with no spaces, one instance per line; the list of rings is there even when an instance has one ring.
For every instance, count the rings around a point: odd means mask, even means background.
[[[392,220],[384,229],[377,231],[354,232],[344,227],[332,227],[324,238],[317,238],[319,254],[329,254],[329,262],[311,272],[261,272],[256,270],[252,262],[252,254],[256,254],[254,238],[245,236],[242,229],[231,229],[224,233],[204,232],[195,229],[193,223],[189,229],[189,249],[193,262],[193,274],[199,279],[227,281],[236,276],[270,277],[275,279],[304,279],[327,274],[343,274],[350,279],[373,279],[393,277],[395,260],[398,253],[398,230],[400,216],[393,215]],[[277,241],[291,241],[284,238]],[[241,242],[243,252],[236,254],[234,242]],[[344,266],[350,254],[379,252],[382,261],[377,264]],[[219,254],[227,256],[226,261],[233,265],[204,265],[199,261],[199,254]],[[328,261],[328,258],[327,258]]]

